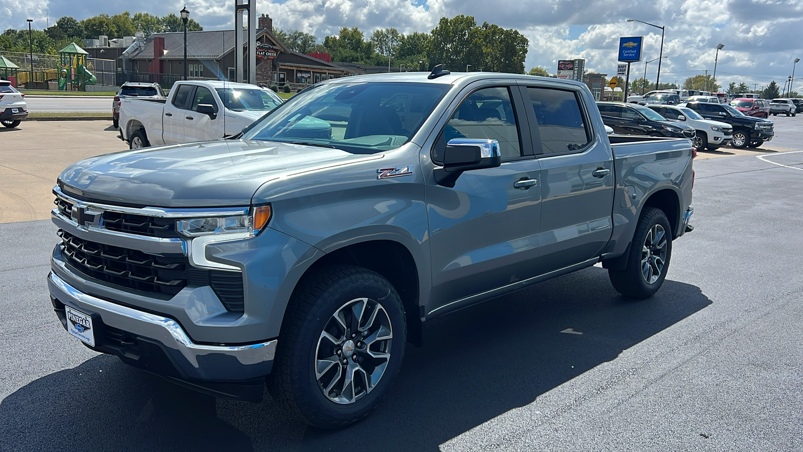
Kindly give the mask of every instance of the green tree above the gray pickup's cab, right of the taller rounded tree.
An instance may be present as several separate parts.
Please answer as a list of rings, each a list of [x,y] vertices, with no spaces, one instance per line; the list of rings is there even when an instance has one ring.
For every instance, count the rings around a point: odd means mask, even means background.
[[[480,68],[490,72],[524,74],[529,40],[516,30],[483,23],[483,64]]]

